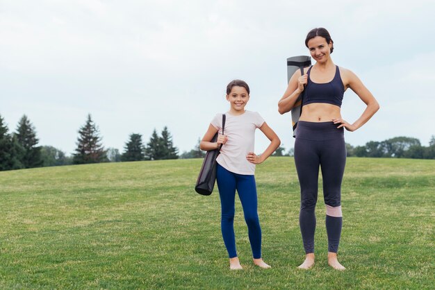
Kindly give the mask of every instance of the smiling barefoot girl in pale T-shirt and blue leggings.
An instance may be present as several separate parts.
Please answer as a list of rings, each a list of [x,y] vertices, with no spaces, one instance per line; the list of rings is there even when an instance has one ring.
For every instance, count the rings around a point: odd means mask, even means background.
[[[249,101],[247,83],[243,80],[232,80],[227,85],[226,97],[230,108],[226,113],[224,135],[219,135],[217,142],[210,142],[218,130],[222,133],[222,114],[217,114],[208,126],[200,148],[209,151],[223,144],[220,155],[217,157],[216,179],[222,210],[222,237],[229,255],[229,268],[231,270],[242,268],[236,253],[233,228],[236,189],[248,227],[254,264],[261,268],[270,268],[261,258],[261,228],[257,213],[254,171],[255,165],[266,160],[278,148],[281,141],[260,114],[245,110]],[[270,139],[270,145],[261,155],[254,153],[256,128],[259,128]]]

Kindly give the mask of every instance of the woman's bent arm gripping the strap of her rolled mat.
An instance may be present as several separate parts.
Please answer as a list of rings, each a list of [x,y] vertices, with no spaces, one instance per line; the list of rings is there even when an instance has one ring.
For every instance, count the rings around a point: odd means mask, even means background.
[[[295,74],[293,74],[293,76],[290,78],[290,81],[288,82],[286,92],[284,92],[284,95],[278,102],[279,114],[290,112],[290,110],[295,105],[299,94],[304,92],[304,85],[306,85],[307,81],[308,77],[306,76],[306,74],[304,74],[304,76],[301,76],[301,71],[299,69],[295,71]]]

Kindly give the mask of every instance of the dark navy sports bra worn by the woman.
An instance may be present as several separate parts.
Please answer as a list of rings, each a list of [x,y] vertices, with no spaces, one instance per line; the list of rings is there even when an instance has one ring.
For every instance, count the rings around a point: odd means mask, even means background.
[[[330,103],[341,107],[345,88],[343,87],[343,80],[341,80],[340,70],[336,66],[336,74],[329,83],[313,83],[310,78],[310,67],[306,72],[308,74],[308,83],[304,89],[304,99],[302,106],[309,103]]]

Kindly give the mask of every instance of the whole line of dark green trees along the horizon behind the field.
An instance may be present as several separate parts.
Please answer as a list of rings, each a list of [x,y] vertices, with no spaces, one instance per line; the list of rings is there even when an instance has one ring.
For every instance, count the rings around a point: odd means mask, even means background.
[[[0,115],[0,171],[99,162],[199,158],[205,155],[199,149],[199,139],[195,148],[179,154],[166,126],[160,135],[154,129],[147,144],[142,142],[142,135],[132,133],[125,143],[123,153],[117,148],[104,148],[99,128],[90,114],[78,133],[76,149],[69,156],[53,146],[38,146],[35,127],[26,115],[19,120],[13,133],[8,132],[8,126]],[[435,136],[430,139],[429,146],[421,146],[420,140],[416,138],[394,137],[382,142],[370,141],[364,146],[346,144],[346,149],[349,157],[435,159]],[[286,152],[280,146],[273,155],[293,156],[293,148]]]

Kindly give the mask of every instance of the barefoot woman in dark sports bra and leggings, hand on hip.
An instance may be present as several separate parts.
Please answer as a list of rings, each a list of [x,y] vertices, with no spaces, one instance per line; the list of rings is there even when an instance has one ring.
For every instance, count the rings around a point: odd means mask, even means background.
[[[345,270],[337,259],[343,221],[340,189],[346,161],[343,128],[350,132],[360,128],[379,110],[379,104],[352,71],[334,64],[331,58],[334,42],[325,28],[311,30],[306,35],[305,45],[316,61],[315,65],[305,68],[303,76],[299,70],[295,71],[278,103],[279,112],[284,114],[293,108],[299,94],[304,94],[295,140],[295,164],[301,188],[299,225],[306,253],[299,268],[308,269],[314,265],[314,209],[320,166],[326,204],[328,264]],[[340,114],[347,88],[366,104],[366,110],[354,123],[347,123]]]

